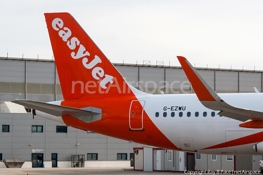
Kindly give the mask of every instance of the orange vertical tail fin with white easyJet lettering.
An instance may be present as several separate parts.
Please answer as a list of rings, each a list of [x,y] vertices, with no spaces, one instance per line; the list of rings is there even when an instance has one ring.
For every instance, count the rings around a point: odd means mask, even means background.
[[[45,13],[64,99],[140,93],[69,13]]]

